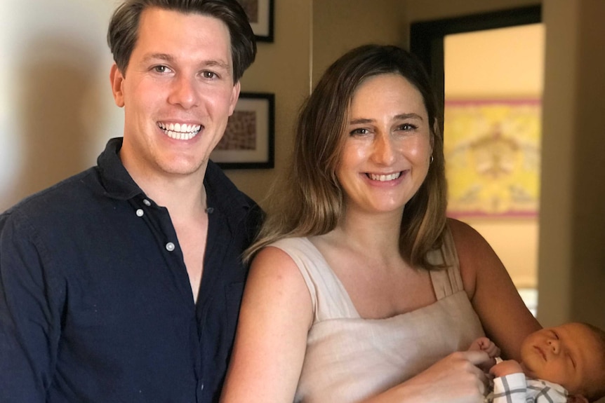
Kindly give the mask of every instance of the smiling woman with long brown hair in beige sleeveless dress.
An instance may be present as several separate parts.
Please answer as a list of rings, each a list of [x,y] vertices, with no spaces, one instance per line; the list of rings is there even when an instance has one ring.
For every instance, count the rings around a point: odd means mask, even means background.
[[[482,402],[488,356],[460,350],[487,334],[518,358],[540,328],[481,235],[446,219],[437,105],[405,50],[328,68],[274,202],[222,402]]]

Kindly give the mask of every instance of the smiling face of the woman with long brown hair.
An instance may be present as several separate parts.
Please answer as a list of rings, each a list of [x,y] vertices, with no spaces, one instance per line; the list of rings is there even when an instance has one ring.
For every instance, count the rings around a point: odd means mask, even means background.
[[[403,211],[427,176],[431,123],[420,92],[399,74],[380,74],[355,90],[336,171],[347,210]]]

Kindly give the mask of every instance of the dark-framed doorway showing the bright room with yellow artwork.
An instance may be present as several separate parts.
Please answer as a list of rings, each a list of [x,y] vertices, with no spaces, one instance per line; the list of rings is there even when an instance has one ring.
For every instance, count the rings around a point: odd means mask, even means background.
[[[418,22],[411,51],[444,107],[448,215],[488,240],[536,315],[544,27],[540,6]]]

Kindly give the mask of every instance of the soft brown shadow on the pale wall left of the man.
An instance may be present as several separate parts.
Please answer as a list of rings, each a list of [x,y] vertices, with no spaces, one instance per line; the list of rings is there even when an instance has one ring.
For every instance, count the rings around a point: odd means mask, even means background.
[[[23,51],[12,134],[20,143],[20,168],[4,196],[12,200],[0,200],[4,207],[90,165],[87,144],[101,111],[90,96],[97,67],[84,44],[65,37],[40,39]]]

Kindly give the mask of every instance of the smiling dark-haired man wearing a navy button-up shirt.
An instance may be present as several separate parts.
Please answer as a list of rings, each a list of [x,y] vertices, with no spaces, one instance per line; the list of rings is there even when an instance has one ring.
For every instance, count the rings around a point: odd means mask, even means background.
[[[236,0],[126,0],[124,137],[0,216],[0,401],[215,402],[260,210],[208,157],[256,46]]]

